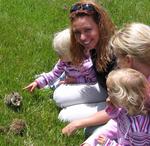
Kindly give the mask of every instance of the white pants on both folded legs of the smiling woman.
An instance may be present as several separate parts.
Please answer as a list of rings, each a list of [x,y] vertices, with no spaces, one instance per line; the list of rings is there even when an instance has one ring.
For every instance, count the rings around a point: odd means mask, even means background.
[[[104,109],[107,92],[96,84],[63,84],[54,91],[53,99],[63,108],[59,119],[73,121]]]

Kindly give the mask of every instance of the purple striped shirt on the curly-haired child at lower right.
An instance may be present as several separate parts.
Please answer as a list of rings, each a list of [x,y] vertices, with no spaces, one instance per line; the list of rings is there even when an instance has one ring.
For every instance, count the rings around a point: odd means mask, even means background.
[[[150,146],[150,115],[129,116],[122,108],[108,106],[106,112],[117,122],[118,143],[107,139],[104,146]]]

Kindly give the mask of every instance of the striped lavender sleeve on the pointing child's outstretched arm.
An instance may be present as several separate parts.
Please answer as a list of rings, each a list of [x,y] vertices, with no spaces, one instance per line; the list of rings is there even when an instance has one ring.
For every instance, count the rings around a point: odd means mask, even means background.
[[[38,87],[43,88],[48,84],[53,84],[56,81],[56,79],[58,79],[62,75],[64,71],[65,63],[59,60],[50,72],[43,73],[39,78],[36,79]]]

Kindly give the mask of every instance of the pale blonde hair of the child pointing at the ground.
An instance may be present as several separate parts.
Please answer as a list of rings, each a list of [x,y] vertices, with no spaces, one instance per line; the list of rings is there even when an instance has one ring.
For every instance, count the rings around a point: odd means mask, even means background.
[[[53,48],[60,55],[67,55],[70,58],[70,29],[57,32],[53,39]]]

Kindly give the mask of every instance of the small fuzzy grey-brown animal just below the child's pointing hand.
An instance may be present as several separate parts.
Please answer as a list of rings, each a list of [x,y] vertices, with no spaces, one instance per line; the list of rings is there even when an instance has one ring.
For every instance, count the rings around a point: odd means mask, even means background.
[[[22,105],[22,99],[18,92],[12,92],[5,96],[4,103],[9,107],[19,108]]]

